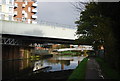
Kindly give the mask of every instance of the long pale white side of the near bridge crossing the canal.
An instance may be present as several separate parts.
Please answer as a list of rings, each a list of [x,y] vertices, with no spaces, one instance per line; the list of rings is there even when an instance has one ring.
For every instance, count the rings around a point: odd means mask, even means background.
[[[46,37],[75,40],[77,29],[48,26],[40,24],[25,24],[18,22],[0,21],[0,33],[10,35]]]

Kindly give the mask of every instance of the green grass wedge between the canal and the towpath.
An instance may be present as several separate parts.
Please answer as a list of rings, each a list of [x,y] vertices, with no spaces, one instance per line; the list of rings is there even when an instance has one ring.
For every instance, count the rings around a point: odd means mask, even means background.
[[[86,65],[88,58],[84,58],[73,73],[69,76],[67,81],[80,81],[85,79]]]

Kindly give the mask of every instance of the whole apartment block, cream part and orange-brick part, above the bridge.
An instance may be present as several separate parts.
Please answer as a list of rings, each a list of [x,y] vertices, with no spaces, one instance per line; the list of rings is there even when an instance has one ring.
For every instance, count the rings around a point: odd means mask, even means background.
[[[2,0],[0,19],[36,24],[36,7],[35,0]]]

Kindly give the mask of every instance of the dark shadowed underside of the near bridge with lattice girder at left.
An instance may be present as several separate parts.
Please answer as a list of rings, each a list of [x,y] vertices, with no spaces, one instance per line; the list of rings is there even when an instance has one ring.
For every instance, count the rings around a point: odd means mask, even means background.
[[[13,34],[2,34],[3,45],[22,45],[28,46],[30,44],[73,44],[75,40],[58,39],[58,38],[47,38],[47,37],[34,37],[34,36],[23,36]]]

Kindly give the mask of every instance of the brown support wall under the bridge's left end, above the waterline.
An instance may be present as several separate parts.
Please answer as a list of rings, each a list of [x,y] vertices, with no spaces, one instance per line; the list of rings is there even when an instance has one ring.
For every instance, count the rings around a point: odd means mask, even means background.
[[[2,60],[27,59],[33,48],[20,46],[2,46]]]

